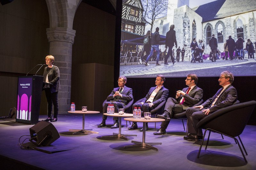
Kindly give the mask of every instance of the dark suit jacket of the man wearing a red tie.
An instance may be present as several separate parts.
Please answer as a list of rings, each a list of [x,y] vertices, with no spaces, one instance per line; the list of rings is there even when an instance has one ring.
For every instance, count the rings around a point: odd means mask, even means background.
[[[182,89],[183,92],[187,92],[189,87]],[[181,98],[183,95],[180,95],[176,100],[180,103]],[[190,92],[184,95],[184,103],[183,103],[183,110],[186,110],[188,107],[194,106],[203,98],[203,90],[197,86],[195,86]]]

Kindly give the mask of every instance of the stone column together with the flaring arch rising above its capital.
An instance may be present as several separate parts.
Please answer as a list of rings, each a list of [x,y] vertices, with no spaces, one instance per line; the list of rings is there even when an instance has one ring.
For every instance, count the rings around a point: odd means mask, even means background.
[[[55,57],[54,64],[60,69],[59,113],[64,114],[70,109],[72,45],[76,36],[73,20],[82,0],[45,1],[50,18],[50,28],[46,29],[49,54]]]

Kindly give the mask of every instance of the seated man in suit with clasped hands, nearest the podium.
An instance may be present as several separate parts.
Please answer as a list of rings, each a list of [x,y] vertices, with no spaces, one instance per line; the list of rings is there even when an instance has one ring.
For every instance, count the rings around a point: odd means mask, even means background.
[[[119,108],[123,108],[129,103],[129,101],[133,99],[132,89],[125,86],[127,78],[120,76],[117,82],[119,87],[114,88],[113,91],[108,95],[107,102],[103,107],[103,113],[107,113],[108,104],[114,104],[115,113],[118,113]],[[102,122],[98,125],[99,128],[106,126],[107,117],[108,116],[103,115]],[[115,120],[115,124],[111,126],[111,128],[119,128],[118,117],[113,117],[113,120]]]

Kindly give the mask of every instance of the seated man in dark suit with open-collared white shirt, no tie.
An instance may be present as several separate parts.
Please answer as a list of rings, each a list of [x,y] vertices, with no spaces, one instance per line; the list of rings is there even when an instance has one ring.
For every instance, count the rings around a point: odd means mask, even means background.
[[[140,103],[134,103],[132,105],[132,110],[134,107],[140,107],[142,108],[143,113],[144,112],[150,112],[154,108],[156,108],[161,102],[167,99],[169,90],[164,88],[164,81],[165,78],[163,75],[157,75],[155,87],[151,87],[148,91],[148,94],[143,98],[143,100]],[[132,126],[129,128],[129,130],[138,129],[137,122],[133,122]],[[148,123],[146,123],[146,130],[148,130]],[[142,131],[142,129],[140,129]]]

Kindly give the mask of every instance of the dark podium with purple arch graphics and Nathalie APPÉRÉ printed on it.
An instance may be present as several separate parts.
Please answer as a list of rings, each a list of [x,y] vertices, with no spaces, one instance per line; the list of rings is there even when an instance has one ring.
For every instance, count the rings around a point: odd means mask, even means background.
[[[38,122],[43,79],[44,76],[18,77],[16,122]]]

